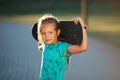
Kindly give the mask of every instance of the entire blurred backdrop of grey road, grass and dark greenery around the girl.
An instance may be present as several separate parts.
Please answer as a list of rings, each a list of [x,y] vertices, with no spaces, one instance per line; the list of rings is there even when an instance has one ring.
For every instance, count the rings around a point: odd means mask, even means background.
[[[120,0],[0,0],[0,80],[39,80],[31,27],[46,13],[88,25],[89,48],[73,57],[66,80],[120,80]]]

